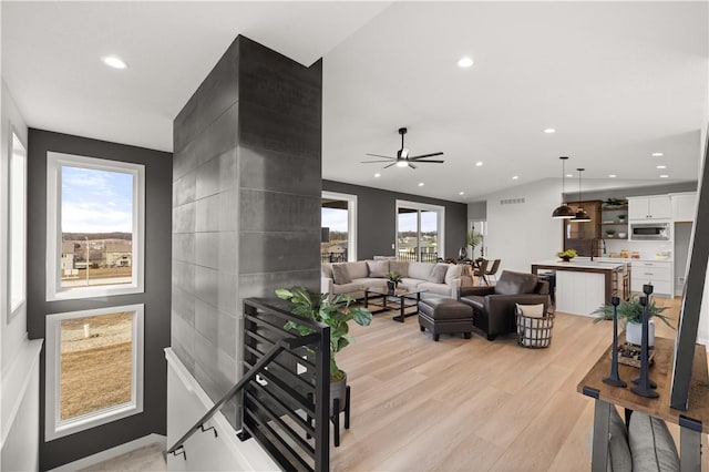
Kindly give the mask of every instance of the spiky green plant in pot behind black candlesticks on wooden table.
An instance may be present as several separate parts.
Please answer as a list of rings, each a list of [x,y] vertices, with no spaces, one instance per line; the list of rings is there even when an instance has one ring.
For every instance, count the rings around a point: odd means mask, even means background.
[[[665,325],[675,329],[669,322],[671,318],[662,315],[667,307],[658,307],[653,298],[647,304],[647,314],[649,317],[648,326],[648,346],[655,346],[655,322],[653,318],[657,317]],[[594,311],[598,317],[594,322],[602,319],[613,319],[613,305],[604,305]],[[618,320],[625,326],[625,339],[631,345],[640,346],[643,342],[643,305],[640,305],[640,296],[634,295],[627,300],[620,301],[618,305]]]

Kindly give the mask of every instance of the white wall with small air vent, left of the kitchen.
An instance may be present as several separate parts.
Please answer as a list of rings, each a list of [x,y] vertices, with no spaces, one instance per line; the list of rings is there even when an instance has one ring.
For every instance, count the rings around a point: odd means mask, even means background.
[[[545,178],[486,196],[486,256],[502,259],[501,271],[528,273],[532,261],[554,258],[562,249],[562,220],[552,218],[561,191],[561,178]],[[501,203],[517,198],[524,203]]]

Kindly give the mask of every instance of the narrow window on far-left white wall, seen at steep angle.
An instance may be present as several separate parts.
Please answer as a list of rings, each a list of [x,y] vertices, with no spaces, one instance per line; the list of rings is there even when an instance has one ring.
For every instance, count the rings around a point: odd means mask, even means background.
[[[9,173],[9,232],[8,232],[8,294],[12,319],[25,300],[25,255],[27,255],[27,151],[22,142],[12,133]]]

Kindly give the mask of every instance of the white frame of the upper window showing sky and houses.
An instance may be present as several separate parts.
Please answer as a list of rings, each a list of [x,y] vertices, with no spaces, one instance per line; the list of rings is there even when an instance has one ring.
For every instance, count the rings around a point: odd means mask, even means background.
[[[133,175],[133,238],[131,284],[62,288],[62,167],[82,167]],[[145,166],[49,151],[47,153],[47,300],[107,297],[145,291]]]

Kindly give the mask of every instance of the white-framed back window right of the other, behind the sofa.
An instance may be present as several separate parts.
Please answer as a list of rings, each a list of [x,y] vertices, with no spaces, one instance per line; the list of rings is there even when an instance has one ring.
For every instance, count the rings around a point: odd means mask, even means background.
[[[397,201],[397,258],[435,263],[443,257],[445,208]]]

